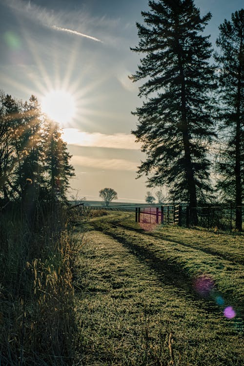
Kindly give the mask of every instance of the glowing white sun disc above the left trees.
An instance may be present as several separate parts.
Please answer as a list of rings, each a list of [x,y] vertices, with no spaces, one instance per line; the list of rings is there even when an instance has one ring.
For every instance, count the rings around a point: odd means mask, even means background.
[[[51,120],[59,122],[61,127],[67,127],[75,118],[75,98],[68,91],[51,90],[41,99],[41,109]]]

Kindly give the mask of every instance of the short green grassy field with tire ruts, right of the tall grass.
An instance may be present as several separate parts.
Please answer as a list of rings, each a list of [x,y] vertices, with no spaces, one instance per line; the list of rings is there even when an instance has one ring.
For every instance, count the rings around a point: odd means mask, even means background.
[[[78,364],[243,365],[243,243],[130,213],[91,219],[75,272]]]

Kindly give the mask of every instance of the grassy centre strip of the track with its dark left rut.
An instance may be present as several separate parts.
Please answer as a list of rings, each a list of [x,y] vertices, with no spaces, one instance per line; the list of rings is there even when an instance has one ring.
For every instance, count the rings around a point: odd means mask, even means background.
[[[221,296],[225,303],[235,307],[238,316],[243,317],[243,288],[240,285],[243,274],[242,265],[219,259],[210,253],[203,253],[201,248],[184,248],[177,241],[149,236],[144,230],[142,232],[132,230],[130,223],[127,227],[124,226],[126,224],[121,223],[121,220],[123,220],[122,217],[119,217],[119,220],[106,218],[94,222],[93,226],[122,244],[128,245],[138,256],[141,256],[142,261],[146,260],[155,267],[159,275],[164,271],[164,276],[169,282],[185,289],[196,301],[202,300],[204,308],[218,311],[221,306],[217,305],[216,299]],[[120,224],[123,226],[121,227]],[[202,296],[194,289],[194,282],[199,276],[213,279],[214,288],[211,294],[207,294],[208,296]]]

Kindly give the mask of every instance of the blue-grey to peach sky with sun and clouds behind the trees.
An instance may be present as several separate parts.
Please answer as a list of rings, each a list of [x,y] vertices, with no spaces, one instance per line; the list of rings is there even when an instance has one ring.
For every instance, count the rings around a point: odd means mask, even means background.
[[[218,26],[243,0],[195,4],[202,15],[212,13],[205,34],[215,46]],[[136,21],[146,10],[147,0],[0,0],[0,89],[23,101],[34,94],[43,108],[50,100],[56,105],[51,117],[60,122],[76,172],[70,196],[100,200],[99,191],[111,187],[118,201],[141,203],[159,189],[136,179],[144,154],[131,134],[131,111],[142,100],[128,78],[140,63],[130,47],[138,44]]]

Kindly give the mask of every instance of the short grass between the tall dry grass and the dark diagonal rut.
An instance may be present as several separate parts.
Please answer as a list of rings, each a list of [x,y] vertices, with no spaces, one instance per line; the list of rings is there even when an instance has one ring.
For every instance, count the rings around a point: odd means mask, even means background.
[[[150,319],[149,341],[153,347],[162,339],[161,331],[157,336],[158,330],[161,326],[167,330],[169,322],[176,336],[179,364],[209,366],[218,356],[217,366],[241,366],[241,342],[232,322],[227,324],[221,314],[208,313],[204,304],[200,306],[189,295],[188,288],[172,283],[171,269],[163,265],[162,272],[158,263],[156,270],[153,260],[147,261],[148,253],[139,253],[138,248],[122,240],[122,235],[115,238],[94,230],[87,237],[78,278],[83,284],[78,306],[83,324],[80,365],[166,365],[153,358],[150,363],[142,360],[147,349],[144,321]],[[86,291],[87,286],[93,291]],[[150,357],[157,349],[153,347],[148,346]],[[167,344],[164,357],[167,360]]]

